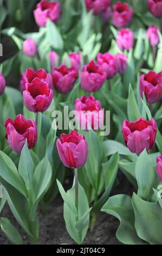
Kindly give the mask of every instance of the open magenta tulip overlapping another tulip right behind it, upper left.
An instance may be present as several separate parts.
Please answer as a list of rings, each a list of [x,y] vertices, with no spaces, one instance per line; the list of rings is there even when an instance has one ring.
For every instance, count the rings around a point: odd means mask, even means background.
[[[31,83],[25,84],[23,91],[25,106],[31,112],[44,112],[53,100],[53,90],[49,88],[47,82],[40,78],[34,78]]]

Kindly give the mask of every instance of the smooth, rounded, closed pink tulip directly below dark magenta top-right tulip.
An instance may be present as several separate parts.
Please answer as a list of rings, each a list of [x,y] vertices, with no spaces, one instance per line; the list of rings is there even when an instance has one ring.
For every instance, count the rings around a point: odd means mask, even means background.
[[[121,51],[131,50],[134,44],[133,32],[128,28],[122,28],[117,34],[116,42]]]

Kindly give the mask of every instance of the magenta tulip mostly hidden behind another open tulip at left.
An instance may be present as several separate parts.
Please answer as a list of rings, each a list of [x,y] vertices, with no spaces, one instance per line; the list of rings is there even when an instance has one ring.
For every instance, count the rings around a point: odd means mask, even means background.
[[[47,82],[50,89],[53,89],[53,78],[50,74],[46,72],[44,69],[38,69],[34,71],[34,69],[26,69],[25,72],[22,74],[21,77],[21,91],[25,90],[26,83],[32,83],[34,78],[39,78],[43,82]]]

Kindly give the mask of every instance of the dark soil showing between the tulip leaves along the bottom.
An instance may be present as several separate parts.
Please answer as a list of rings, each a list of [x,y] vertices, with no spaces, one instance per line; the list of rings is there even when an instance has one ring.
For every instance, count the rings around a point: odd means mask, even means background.
[[[123,174],[119,174],[120,184],[113,190],[113,194],[126,193],[131,195],[133,187]],[[30,244],[28,237],[18,225],[8,206],[5,206],[3,217],[10,219],[12,224],[20,231],[23,236],[24,244]],[[60,245],[66,243],[69,245],[75,244],[66,231],[63,220],[63,201],[60,196],[51,203],[46,215],[43,215],[41,210],[38,211],[40,220],[40,236],[37,244],[40,245]],[[85,245],[119,245],[120,242],[115,237],[115,232],[118,229],[119,221],[111,215],[105,213],[100,214],[98,222],[93,232],[88,230],[87,236],[83,241]],[[0,233],[0,244],[10,245],[10,241],[2,233]]]

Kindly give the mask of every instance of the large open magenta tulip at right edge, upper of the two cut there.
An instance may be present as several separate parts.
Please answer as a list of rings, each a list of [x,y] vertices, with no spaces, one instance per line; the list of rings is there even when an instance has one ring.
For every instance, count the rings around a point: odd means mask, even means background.
[[[161,76],[161,72],[157,74],[154,71],[150,71],[140,77],[140,95],[142,97],[144,92],[149,103],[155,103],[162,97]]]

